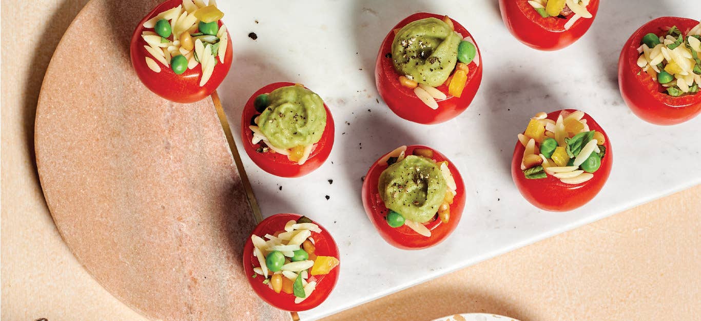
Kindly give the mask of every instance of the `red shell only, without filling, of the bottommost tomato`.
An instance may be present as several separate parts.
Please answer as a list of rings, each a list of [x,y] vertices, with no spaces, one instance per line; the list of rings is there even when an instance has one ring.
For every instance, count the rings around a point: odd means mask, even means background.
[[[266,234],[273,235],[278,231],[284,231],[287,221],[297,221],[300,217],[301,215],[299,214],[275,214],[261,221],[251,235],[258,235],[263,238]],[[314,222],[314,224],[319,225],[316,222]],[[339,247],[336,246],[334,238],[332,238],[326,228],[321,225],[319,225],[319,228],[321,228],[321,233],[311,233],[311,238],[314,240],[314,254],[324,257],[335,257],[340,260]],[[256,275],[253,268],[259,266],[258,258],[253,256],[253,243],[249,237],[246,241],[246,245],[243,247],[243,269],[251,287],[253,287],[253,290],[261,299],[270,303],[271,306],[275,306],[275,308],[281,310],[295,312],[315,308],[325,301],[336,286],[336,281],[339,280],[339,271],[341,269],[341,265],[339,264],[339,266],[333,268],[329,274],[310,275],[309,278],[315,278],[317,282],[314,292],[304,301],[294,303],[294,294],[287,294],[285,292],[275,293],[271,287],[263,284],[263,280],[265,280],[263,275],[257,275],[255,278],[252,278],[252,275]]]

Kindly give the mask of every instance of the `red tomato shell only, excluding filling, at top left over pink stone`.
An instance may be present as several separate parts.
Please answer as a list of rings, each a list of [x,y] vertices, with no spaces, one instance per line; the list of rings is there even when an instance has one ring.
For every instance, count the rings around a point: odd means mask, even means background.
[[[154,18],[156,15],[167,11],[171,8],[175,8],[182,5],[182,0],[168,0],[162,4],[156,6],[156,8],[151,11],[146,17],[144,17],[139,25],[137,25],[131,40],[131,60],[136,74],[141,79],[142,83],[147,86],[152,92],[156,93],[167,100],[173,102],[197,102],[203,98],[212,94],[219,84],[224,81],[224,77],[229,73],[229,68],[231,68],[231,61],[233,57],[233,51],[231,49],[231,36],[229,35],[226,54],[224,55],[224,63],[219,62],[219,57],[217,59],[217,65],[214,71],[212,71],[212,76],[210,80],[205,83],[204,86],[200,87],[200,78],[202,78],[202,65],[197,64],[197,67],[193,69],[187,69],[183,74],[175,74],[170,66],[164,66],[161,62],[158,62],[151,54],[144,48],[148,46],[148,43],[142,38],[142,32],[144,32],[144,22]],[[219,20],[219,27],[222,27],[222,21]],[[148,29],[153,31],[152,29]],[[229,34],[229,31],[226,32]],[[172,36],[171,36],[172,37]],[[156,73],[151,70],[146,64],[145,57],[151,57],[156,60],[156,63],[161,67],[161,72]]]

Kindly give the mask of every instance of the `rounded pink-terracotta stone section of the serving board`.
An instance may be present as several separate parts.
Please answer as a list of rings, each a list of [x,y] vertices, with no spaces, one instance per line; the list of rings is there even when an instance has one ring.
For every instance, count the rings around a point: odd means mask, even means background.
[[[211,100],[165,101],[132,70],[156,2],[90,1],[57,47],[36,111],[50,212],[88,272],[148,317],[289,320],[243,275],[255,223]]]

